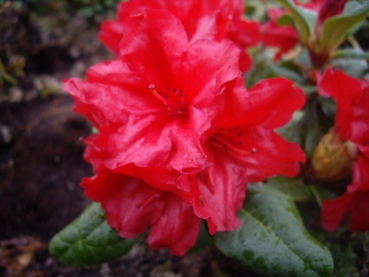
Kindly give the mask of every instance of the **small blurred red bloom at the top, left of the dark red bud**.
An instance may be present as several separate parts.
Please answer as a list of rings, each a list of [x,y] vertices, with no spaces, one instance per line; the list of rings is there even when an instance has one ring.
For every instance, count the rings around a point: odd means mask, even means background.
[[[279,26],[277,20],[285,12],[278,9],[268,9],[270,21],[265,22],[261,27],[262,42],[269,47],[277,47],[279,50],[274,56],[274,60],[290,51],[299,43],[296,30],[291,26]]]

